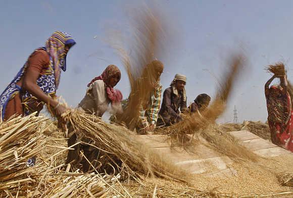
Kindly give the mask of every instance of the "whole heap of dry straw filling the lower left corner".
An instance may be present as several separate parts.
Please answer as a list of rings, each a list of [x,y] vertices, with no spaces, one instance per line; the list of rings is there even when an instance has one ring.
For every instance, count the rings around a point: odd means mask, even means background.
[[[112,176],[66,171],[54,156],[43,159],[47,146],[43,131],[47,118],[12,117],[0,123],[0,197],[103,197],[117,183]],[[55,148],[58,149],[58,147]],[[28,159],[36,157],[34,166]],[[115,190],[114,190],[115,191]],[[117,195],[121,195],[117,192]]]

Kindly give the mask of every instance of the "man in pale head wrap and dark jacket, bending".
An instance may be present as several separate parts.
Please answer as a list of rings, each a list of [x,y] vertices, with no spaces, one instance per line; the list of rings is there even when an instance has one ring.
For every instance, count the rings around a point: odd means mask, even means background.
[[[176,74],[170,87],[165,89],[157,126],[170,126],[181,120],[180,112],[186,111],[185,84],[186,76]]]

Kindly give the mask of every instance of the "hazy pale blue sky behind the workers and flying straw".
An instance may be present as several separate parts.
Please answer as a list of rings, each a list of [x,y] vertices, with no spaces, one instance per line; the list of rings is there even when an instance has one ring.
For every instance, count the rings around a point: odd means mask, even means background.
[[[266,121],[265,66],[285,63],[293,78],[293,1],[2,1],[0,7],[0,91],[14,78],[33,50],[54,31],[70,33],[76,45],[67,56],[57,91],[72,107],[83,98],[87,83],[110,64],[121,69],[116,86],[127,97],[129,81],[119,56],[109,46],[109,29],[127,33],[129,15],[145,5],[156,8],[168,23],[171,42],[160,60],[165,65],[163,89],[176,73],[187,77],[187,103],[200,93],[215,96],[217,79],[232,53],[242,52],[246,65],[234,84],[219,122]],[[131,39],[131,35],[129,35]],[[239,50],[240,49],[240,50]]]

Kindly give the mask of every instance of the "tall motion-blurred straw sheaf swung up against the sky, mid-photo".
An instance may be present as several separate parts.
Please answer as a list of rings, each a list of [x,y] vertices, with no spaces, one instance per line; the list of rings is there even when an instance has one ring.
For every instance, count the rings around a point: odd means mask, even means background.
[[[131,87],[128,104],[123,114],[117,115],[116,119],[118,123],[125,123],[130,130],[133,130],[141,106],[149,102],[153,91],[152,83],[156,81],[157,73],[154,68],[147,65],[160,56],[160,49],[165,41],[165,31],[163,31],[162,19],[155,11],[141,9],[133,11],[131,16],[132,37],[128,41],[129,46],[117,44],[115,40],[110,41],[110,45],[117,51],[127,71]],[[131,50],[131,56],[126,48]]]

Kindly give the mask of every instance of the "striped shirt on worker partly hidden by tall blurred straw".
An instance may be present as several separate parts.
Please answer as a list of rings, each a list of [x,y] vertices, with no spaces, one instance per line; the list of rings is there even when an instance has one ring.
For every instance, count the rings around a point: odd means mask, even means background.
[[[151,124],[156,125],[158,120],[158,114],[161,105],[162,85],[159,85],[151,96],[151,101],[148,107],[144,110],[141,107],[139,112],[139,120],[136,126],[137,130],[142,130]]]

